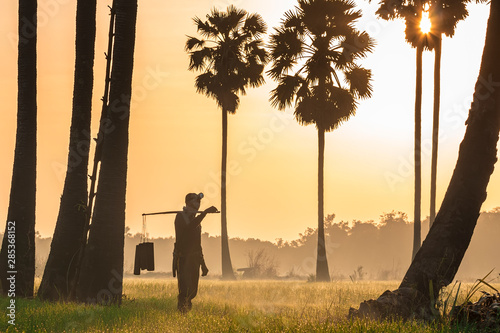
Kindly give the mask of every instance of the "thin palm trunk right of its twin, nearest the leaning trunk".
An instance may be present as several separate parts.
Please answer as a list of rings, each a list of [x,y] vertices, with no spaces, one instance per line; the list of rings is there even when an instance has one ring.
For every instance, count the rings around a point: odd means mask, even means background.
[[[439,143],[439,104],[441,95],[441,41],[442,34],[437,38],[434,48],[434,110],[432,121],[432,161],[431,161],[431,204],[429,215],[429,228],[432,227],[436,219],[436,179],[437,179],[437,158]]]

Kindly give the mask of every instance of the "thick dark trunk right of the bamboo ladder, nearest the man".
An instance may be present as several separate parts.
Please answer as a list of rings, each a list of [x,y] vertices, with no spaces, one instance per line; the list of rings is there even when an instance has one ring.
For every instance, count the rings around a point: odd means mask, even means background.
[[[127,182],[128,128],[137,0],[117,0],[108,131],[103,145],[95,208],[77,298],[121,303]]]

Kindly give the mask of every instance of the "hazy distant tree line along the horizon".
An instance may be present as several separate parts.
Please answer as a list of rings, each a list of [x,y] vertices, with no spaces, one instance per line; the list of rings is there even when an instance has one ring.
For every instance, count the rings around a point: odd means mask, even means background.
[[[429,220],[423,221],[423,230],[428,230]],[[469,280],[484,276],[493,268],[500,267],[500,259],[492,253],[491,244],[495,244],[500,234],[500,207],[483,212],[472,238],[471,245],[457,279]],[[0,234],[1,235],[1,234]],[[334,215],[325,219],[325,236],[327,255],[332,263],[333,280],[350,280],[350,275],[363,267],[366,280],[397,280],[408,268],[411,259],[411,239],[413,223],[406,214],[391,212],[381,215],[379,221],[340,221],[335,222]],[[425,235],[423,235],[425,236]],[[174,238],[153,238],[155,244],[155,274],[170,274],[172,257],[169,255],[174,246]],[[47,260],[51,238],[36,237],[37,257],[36,272],[41,277]],[[131,234],[127,230],[125,236],[125,276],[132,274],[135,246],[140,242],[140,234]],[[266,260],[276,264],[276,276],[281,278],[305,279],[315,273],[315,253],[317,229],[307,228],[297,239],[285,241],[281,238],[275,242],[260,239],[230,238],[233,249],[234,268],[250,266],[250,257],[254,260],[260,252],[267,256]],[[210,269],[209,277],[221,274],[221,240],[220,236],[202,236],[205,259]],[[272,265],[270,265],[272,266]],[[496,271],[495,271],[496,272]],[[151,274],[151,273],[145,273]],[[165,275],[163,274],[163,275]],[[241,274],[241,273],[240,273]],[[496,272],[495,274],[498,274]],[[154,274],[153,274],[154,275]]]

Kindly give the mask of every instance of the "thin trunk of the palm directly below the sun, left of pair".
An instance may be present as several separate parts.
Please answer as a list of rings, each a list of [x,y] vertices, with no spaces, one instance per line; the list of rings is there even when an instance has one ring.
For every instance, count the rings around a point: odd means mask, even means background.
[[[417,79],[415,83],[415,202],[414,202],[414,222],[413,222],[413,254],[420,249],[421,223],[420,206],[422,196],[422,153],[421,153],[421,122],[422,122],[422,53],[423,46],[417,47]]]

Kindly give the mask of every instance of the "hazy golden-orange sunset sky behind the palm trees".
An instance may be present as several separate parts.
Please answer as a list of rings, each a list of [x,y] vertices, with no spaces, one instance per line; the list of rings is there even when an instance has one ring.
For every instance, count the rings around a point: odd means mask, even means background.
[[[52,236],[64,184],[74,73],[76,1],[39,0],[38,162],[36,230]],[[373,97],[339,129],[326,134],[325,214],[335,221],[374,220],[402,211],[413,220],[415,49],[404,24],[377,19],[377,1],[356,1],[357,23],[376,40],[362,61],[373,73]],[[104,86],[109,1],[98,2],[92,128],[95,135]],[[196,36],[192,18],[234,4],[262,15],[268,32],[296,1],[139,0],[132,85],[126,225],[142,229],[142,213],[178,210],[188,192],[204,192],[202,209],[220,208],[222,114],[214,100],[197,94],[184,51]],[[437,206],[453,172],[472,101],[489,13],[471,4],[455,36],[444,38]],[[0,228],[5,226],[15,147],[17,112],[17,4],[0,5]],[[434,54],[424,53],[422,108],[422,216],[429,215]],[[293,110],[269,103],[276,86],[241,97],[229,116],[228,233],[230,237],[292,240],[317,226],[317,131],[301,126]],[[92,153],[93,154],[92,147]],[[500,206],[500,175],[490,179],[482,210]],[[148,217],[153,237],[174,235],[173,215]],[[220,234],[219,215],[203,231]],[[427,230],[423,230],[425,233]]]

